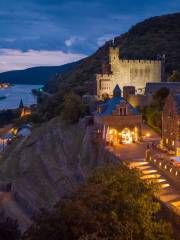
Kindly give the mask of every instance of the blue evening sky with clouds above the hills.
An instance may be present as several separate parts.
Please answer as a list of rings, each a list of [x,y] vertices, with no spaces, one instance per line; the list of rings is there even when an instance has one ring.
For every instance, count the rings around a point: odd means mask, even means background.
[[[0,0],[0,72],[84,58],[180,0]]]

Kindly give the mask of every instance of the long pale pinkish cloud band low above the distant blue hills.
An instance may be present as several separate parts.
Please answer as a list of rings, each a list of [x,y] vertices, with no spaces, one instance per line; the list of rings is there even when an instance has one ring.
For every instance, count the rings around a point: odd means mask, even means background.
[[[0,49],[0,72],[21,70],[35,66],[57,66],[86,57],[79,53],[63,51]]]

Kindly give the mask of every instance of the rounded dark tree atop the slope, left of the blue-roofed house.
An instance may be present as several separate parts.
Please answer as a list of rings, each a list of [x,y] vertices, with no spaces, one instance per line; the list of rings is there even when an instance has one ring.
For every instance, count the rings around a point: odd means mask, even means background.
[[[68,123],[75,123],[84,116],[86,106],[79,95],[71,92],[64,96],[61,116]]]

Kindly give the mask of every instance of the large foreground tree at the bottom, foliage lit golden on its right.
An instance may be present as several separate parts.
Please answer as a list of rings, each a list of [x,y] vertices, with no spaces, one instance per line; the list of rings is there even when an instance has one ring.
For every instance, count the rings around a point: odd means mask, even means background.
[[[157,189],[126,166],[100,168],[71,198],[42,211],[24,239],[169,240],[171,227],[158,218]]]

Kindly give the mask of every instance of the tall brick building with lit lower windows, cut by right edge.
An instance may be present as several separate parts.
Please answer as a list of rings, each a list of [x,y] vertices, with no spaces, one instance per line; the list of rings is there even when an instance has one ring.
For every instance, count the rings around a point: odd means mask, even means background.
[[[180,94],[170,93],[162,112],[162,146],[180,156]]]

